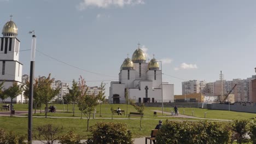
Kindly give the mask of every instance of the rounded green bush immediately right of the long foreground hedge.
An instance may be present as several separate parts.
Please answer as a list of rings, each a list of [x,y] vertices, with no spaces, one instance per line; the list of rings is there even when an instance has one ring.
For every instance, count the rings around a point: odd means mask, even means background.
[[[249,132],[250,122],[246,119],[235,120],[232,123],[233,139],[237,140],[237,143],[246,143],[249,139],[246,138],[246,134]]]

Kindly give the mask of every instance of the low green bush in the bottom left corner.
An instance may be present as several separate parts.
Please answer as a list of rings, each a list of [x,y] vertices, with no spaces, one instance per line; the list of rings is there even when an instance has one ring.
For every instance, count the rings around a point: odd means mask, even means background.
[[[25,136],[16,135],[12,131],[7,133],[5,130],[0,129],[0,144],[25,144]]]

